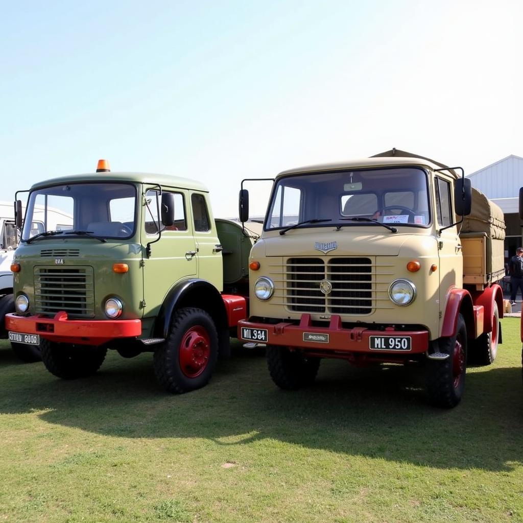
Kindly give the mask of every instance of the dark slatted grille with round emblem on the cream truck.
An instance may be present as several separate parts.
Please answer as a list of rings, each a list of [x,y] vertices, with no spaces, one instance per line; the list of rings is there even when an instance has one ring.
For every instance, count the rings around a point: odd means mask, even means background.
[[[287,306],[291,311],[370,314],[373,310],[374,266],[370,258],[289,258]],[[323,294],[320,282],[332,291]]]

